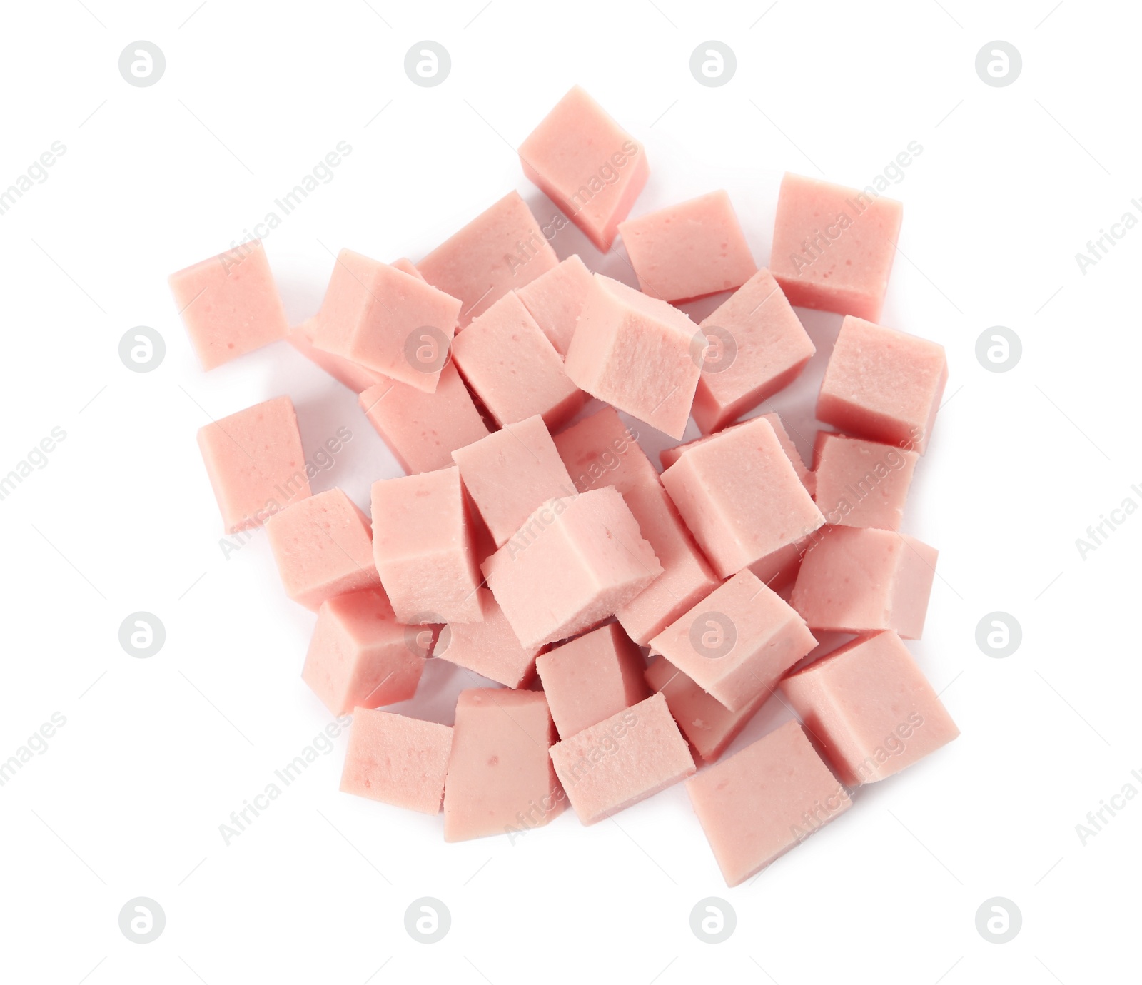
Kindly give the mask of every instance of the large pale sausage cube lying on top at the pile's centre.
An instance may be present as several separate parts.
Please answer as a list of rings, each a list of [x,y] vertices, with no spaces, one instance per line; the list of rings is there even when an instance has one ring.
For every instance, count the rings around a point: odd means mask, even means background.
[[[614,615],[662,566],[608,487],[545,503],[483,572],[523,646],[540,647]]]

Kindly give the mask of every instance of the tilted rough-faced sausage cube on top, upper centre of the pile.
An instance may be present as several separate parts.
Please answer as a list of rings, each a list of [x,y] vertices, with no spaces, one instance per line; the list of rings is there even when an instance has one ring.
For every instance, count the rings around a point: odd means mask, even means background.
[[[595,274],[568,349],[566,373],[593,397],[677,439],[698,386],[697,331],[676,307]]]

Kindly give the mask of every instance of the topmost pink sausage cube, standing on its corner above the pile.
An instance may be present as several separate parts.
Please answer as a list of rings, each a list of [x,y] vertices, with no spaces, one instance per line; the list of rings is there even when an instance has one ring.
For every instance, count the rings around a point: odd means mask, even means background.
[[[523,173],[600,250],[646,184],[646,152],[578,86],[520,145]]]

